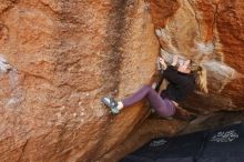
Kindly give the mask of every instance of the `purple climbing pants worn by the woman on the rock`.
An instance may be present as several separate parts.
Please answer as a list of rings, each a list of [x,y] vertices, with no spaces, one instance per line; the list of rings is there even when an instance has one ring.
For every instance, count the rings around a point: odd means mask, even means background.
[[[135,102],[146,98],[149,103],[161,117],[171,117],[175,112],[175,107],[169,99],[162,99],[160,94],[153,90],[150,85],[143,85],[131,97],[122,100],[124,107],[130,107]]]

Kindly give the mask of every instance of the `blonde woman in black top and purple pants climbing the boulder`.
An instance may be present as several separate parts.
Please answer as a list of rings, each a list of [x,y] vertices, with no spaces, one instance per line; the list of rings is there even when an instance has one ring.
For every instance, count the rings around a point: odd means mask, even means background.
[[[179,65],[177,62],[177,55],[173,57],[171,65],[167,65],[164,59],[160,58],[160,64],[163,67],[161,74],[169,81],[169,85],[160,94],[151,85],[143,85],[134,94],[122,101],[115,101],[109,97],[103,97],[101,101],[110,108],[112,114],[116,114],[123,108],[130,107],[145,98],[160,117],[175,115],[179,102],[194,91],[195,82],[200,84],[202,90],[207,91],[201,67],[193,69],[191,60],[183,61]],[[192,120],[195,117],[190,115],[190,118],[185,120]]]

